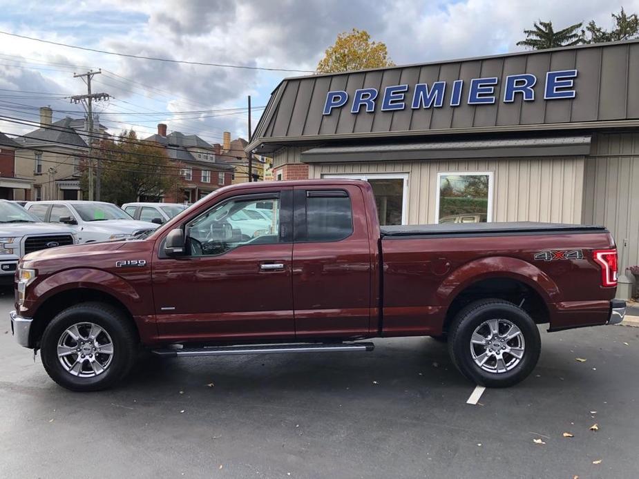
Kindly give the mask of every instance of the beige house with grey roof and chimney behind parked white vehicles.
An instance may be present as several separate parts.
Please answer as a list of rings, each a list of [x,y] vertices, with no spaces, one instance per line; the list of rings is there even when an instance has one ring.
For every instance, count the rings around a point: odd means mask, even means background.
[[[106,134],[96,125],[95,135]],[[85,119],[53,121],[53,111],[40,108],[40,128],[16,139],[16,176],[32,179],[31,199],[82,199],[80,178],[88,153]]]

